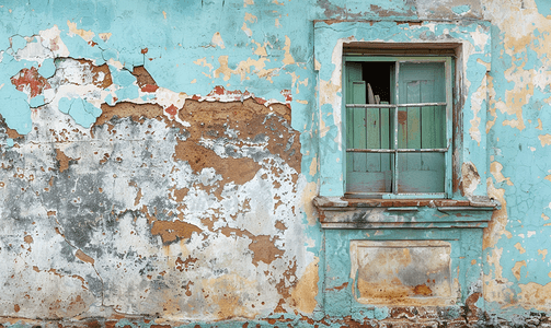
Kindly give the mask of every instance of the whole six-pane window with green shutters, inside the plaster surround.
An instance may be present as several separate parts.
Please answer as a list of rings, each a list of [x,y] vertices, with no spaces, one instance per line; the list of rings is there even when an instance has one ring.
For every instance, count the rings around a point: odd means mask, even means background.
[[[344,57],[351,198],[449,198],[451,57]]]

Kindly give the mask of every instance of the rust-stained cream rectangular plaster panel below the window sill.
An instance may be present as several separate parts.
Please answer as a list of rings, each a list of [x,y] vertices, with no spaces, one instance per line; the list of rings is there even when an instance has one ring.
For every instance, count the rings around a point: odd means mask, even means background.
[[[441,241],[351,241],[355,297],[365,304],[451,304],[450,254]]]

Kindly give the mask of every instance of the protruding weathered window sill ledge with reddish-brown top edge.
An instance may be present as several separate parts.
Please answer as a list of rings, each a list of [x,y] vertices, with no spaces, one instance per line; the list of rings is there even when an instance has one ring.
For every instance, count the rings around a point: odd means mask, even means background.
[[[454,199],[313,199],[324,229],[483,229],[500,203]]]

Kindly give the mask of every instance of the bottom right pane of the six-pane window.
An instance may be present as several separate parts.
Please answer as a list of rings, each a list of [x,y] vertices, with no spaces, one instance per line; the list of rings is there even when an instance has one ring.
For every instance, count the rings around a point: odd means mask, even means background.
[[[399,153],[398,192],[444,192],[445,153]]]

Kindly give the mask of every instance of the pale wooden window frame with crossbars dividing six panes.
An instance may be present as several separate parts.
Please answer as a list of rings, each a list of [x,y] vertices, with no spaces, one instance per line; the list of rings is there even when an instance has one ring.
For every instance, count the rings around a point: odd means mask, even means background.
[[[454,112],[454,58],[451,56],[392,56],[391,54],[384,55],[375,55],[375,56],[366,56],[365,54],[360,55],[352,55],[345,54],[343,56],[343,95],[346,95],[346,62],[366,62],[366,61],[377,61],[377,62],[395,62],[394,69],[394,95],[395,95],[395,104],[347,104],[346,96],[343,96],[343,113],[347,113],[348,108],[391,108],[394,110],[393,115],[393,140],[394,144],[391,149],[382,150],[382,149],[354,149],[349,145],[346,145],[346,119],[343,119],[343,142],[345,144],[344,149],[344,160],[346,161],[346,153],[351,152],[361,152],[361,153],[393,153],[394,161],[392,167],[392,188],[391,192],[374,192],[374,191],[346,191],[346,198],[382,198],[382,199],[446,199],[451,198],[452,195],[452,112]],[[400,87],[400,65],[402,63],[425,63],[425,62],[443,62],[445,69],[445,93],[446,101],[438,103],[416,103],[416,104],[400,104],[399,99],[399,87]],[[399,124],[398,124],[398,110],[399,108],[407,108],[407,107],[424,107],[424,106],[445,106],[446,112],[446,129],[445,129],[445,140],[446,148],[438,149],[400,149],[398,148],[398,139],[399,139]],[[392,134],[392,133],[391,133]],[[399,192],[398,190],[398,181],[400,176],[399,171],[399,153],[420,153],[420,152],[431,152],[431,153],[444,153],[444,192]],[[346,165],[345,165],[346,166]],[[346,176],[346,175],[345,175]],[[346,190],[346,178],[345,178],[345,190]]]

